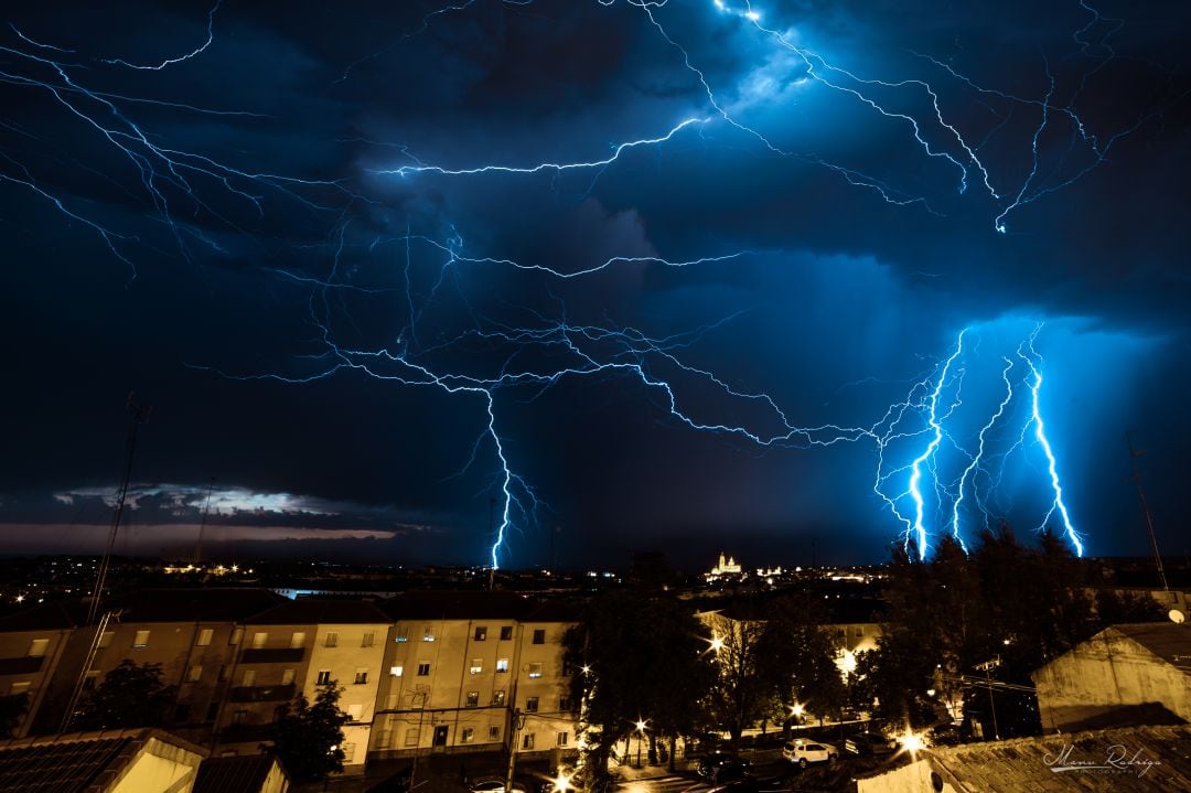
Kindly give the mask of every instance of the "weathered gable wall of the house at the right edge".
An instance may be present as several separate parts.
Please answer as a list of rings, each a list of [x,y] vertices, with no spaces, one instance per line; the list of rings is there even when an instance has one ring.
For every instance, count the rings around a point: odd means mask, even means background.
[[[1153,703],[1191,722],[1187,674],[1111,629],[1035,672],[1034,683],[1048,731]]]

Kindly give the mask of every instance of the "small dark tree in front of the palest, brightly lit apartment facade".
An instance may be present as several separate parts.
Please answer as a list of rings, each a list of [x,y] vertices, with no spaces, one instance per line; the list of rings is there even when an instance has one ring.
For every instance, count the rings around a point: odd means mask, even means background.
[[[320,686],[314,704],[306,694],[278,708],[273,750],[297,783],[324,780],[343,770],[343,725],[351,717],[339,710],[342,688]]]

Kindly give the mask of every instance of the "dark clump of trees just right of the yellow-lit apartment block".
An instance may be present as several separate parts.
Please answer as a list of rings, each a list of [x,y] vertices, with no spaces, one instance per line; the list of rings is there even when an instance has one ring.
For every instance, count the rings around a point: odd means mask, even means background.
[[[788,723],[798,704],[828,713],[843,699],[835,650],[813,600],[794,595],[735,618],[698,619],[673,597],[612,591],[563,638],[573,701],[590,730],[593,782],[621,741],[668,744],[759,722]]]

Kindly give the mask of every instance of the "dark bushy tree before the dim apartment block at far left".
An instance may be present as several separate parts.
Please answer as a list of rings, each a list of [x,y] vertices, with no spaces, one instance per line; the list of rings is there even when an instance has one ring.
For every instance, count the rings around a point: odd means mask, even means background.
[[[73,724],[80,730],[160,726],[176,688],[162,682],[160,663],[136,664],[127,658],[87,692]]]

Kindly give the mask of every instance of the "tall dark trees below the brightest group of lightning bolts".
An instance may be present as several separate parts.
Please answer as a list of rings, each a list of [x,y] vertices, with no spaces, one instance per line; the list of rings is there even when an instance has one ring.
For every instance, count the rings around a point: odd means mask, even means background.
[[[1147,595],[1089,594],[1086,566],[1049,531],[1036,547],[1003,525],[969,552],[952,538],[928,562],[909,551],[893,549],[884,633],[875,650],[860,654],[848,686],[855,705],[868,710],[875,700],[875,714],[892,723],[929,726],[948,716],[941,703],[966,701],[980,710],[987,736],[993,708],[1000,737],[1035,735],[1036,699],[979,686],[983,669],[1029,688],[1031,672],[1103,627],[1164,618]]]

